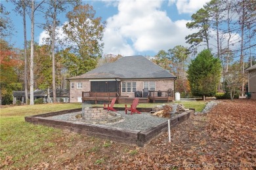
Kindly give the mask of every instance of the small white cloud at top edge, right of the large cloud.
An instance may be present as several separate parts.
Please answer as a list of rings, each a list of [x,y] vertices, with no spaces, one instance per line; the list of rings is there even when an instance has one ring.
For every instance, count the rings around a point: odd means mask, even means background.
[[[194,14],[209,1],[210,0],[169,0],[169,5],[176,3],[179,14]]]

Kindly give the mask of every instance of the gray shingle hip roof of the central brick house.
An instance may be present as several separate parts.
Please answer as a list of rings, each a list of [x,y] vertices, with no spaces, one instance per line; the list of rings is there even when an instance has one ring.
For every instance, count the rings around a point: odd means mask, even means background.
[[[127,56],[68,79],[88,78],[176,78],[176,76],[143,56]]]

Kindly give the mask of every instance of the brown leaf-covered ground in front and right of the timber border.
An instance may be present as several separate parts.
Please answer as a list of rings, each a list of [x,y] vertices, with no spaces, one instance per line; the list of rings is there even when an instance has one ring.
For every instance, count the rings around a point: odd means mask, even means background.
[[[172,129],[171,143],[167,133],[144,148],[74,133],[51,143],[41,150],[49,158],[26,169],[255,169],[256,101],[221,101]]]

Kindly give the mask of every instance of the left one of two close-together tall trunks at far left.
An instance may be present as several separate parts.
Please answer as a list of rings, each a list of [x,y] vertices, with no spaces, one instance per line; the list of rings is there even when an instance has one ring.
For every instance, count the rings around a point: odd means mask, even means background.
[[[27,61],[27,29],[26,29],[26,6],[25,0],[22,0],[23,10],[23,28],[24,28],[24,84],[25,84],[25,101],[28,104],[28,61]]]

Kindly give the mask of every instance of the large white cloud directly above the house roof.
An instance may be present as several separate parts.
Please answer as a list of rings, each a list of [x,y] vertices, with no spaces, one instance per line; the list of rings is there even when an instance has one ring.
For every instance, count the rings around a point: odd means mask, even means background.
[[[107,20],[104,53],[125,56],[187,46],[188,20],[173,22],[161,10],[163,1],[119,1],[118,13]]]

